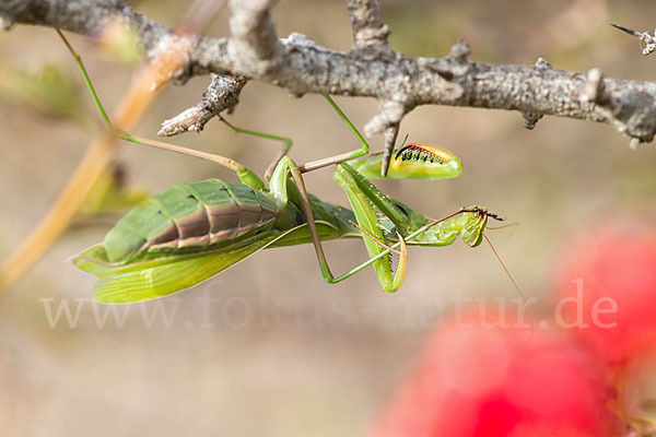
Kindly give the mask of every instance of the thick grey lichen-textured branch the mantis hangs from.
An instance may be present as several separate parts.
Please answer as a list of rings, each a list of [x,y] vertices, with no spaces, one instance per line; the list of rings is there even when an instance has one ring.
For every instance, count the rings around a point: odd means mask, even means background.
[[[272,4],[271,0],[231,0],[230,38],[188,36],[191,49],[184,68],[172,79],[184,83],[192,75],[213,72],[259,80],[295,96],[375,97],[382,113],[367,123],[365,132],[391,128],[388,139],[395,137],[394,127],[398,130],[408,111],[426,104],[517,110],[527,127],[544,115],[607,122],[634,143],[649,142],[656,132],[656,83],[599,74],[595,98],[589,98],[586,74],[553,69],[543,60],[535,66],[471,62],[470,49],[462,42],[442,59],[406,57],[386,48],[388,31],[376,0],[349,0],[354,48],[330,50],[296,33],[279,39],[270,15]],[[151,59],[173,40],[171,28],[120,0],[5,0],[0,4],[3,28],[24,23],[95,36],[112,16],[133,26]],[[235,97],[237,88],[235,85],[231,92]],[[586,97],[582,99],[582,95]]]

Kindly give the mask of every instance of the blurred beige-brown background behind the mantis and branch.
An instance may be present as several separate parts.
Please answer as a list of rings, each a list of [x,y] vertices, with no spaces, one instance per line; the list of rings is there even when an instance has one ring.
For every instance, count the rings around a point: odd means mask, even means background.
[[[188,7],[130,4],[171,26]],[[608,25],[653,28],[652,1],[384,0],[383,15],[393,31],[390,44],[408,56],[442,57],[465,38],[478,62],[532,64],[543,57],[559,69],[597,67],[609,78],[653,80],[654,58],[644,58],[635,38]],[[206,33],[226,35],[227,16],[221,11]],[[343,1],[284,0],[274,17],[280,36],[301,32],[329,48],[351,46]],[[70,38],[105,107],[114,108],[133,70],[99,56],[89,39]],[[0,59],[3,71],[55,66],[71,78],[71,93],[80,95],[90,117],[98,117],[52,29],[17,26],[2,34]],[[208,83],[203,76],[184,87],[166,85],[134,133],[155,138],[160,122],[196,104]],[[377,111],[373,99],[337,102],[359,128]],[[320,96],[291,98],[256,82],[245,87],[230,120],[293,138],[291,156],[297,162],[356,146]],[[11,98],[7,90],[0,94],[0,131],[2,259],[47,211],[91,137],[79,125]],[[547,117],[528,131],[517,113],[425,106],[403,120],[406,132],[411,141],[456,153],[462,176],[377,186],[430,216],[481,204],[519,223],[488,235],[538,307],[552,305],[554,265],[572,238],[609,218],[656,213],[653,144],[631,151],[629,140],[607,125]],[[278,150],[218,121],[172,142],[234,157],[258,172]],[[379,150],[382,137],[371,144]],[[127,143],[119,156],[130,184],[151,192],[208,177],[236,180],[211,163]],[[308,175],[306,185],[323,200],[348,204],[330,169]],[[425,333],[458,299],[492,306],[517,298],[489,247],[472,250],[458,241],[411,248],[406,282],[394,295],[380,292],[373,270],[325,284],[312,247],[301,246],[257,253],[156,302],[96,305],[90,300],[94,277],[68,260],[101,241],[116,218],[72,226],[0,296],[1,435],[364,435],[414,365]],[[326,250],[333,272],[366,255],[359,240],[328,243]]]

